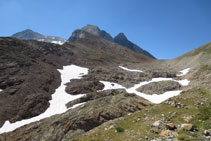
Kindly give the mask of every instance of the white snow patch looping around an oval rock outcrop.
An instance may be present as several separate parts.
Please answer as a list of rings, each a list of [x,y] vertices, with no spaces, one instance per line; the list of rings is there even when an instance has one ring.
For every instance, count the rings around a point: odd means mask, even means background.
[[[155,103],[155,104],[160,104],[163,101],[177,96],[179,95],[182,91],[181,90],[175,90],[175,91],[167,91],[163,94],[145,94],[145,93],[141,93],[139,91],[137,91],[137,89],[143,85],[152,83],[152,82],[159,82],[159,81],[167,81],[167,80],[171,80],[171,81],[176,81],[178,83],[180,83],[182,86],[187,86],[189,84],[190,81],[188,81],[187,79],[184,80],[174,80],[172,78],[153,78],[150,81],[144,81],[144,82],[140,82],[139,84],[135,84],[133,87],[131,88],[126,88],[120,84],[117,83],[113,83],[113,82],[108,82],[108,81],[100,81],[101,83],[103,83],[105,85],[105,88],[103,90],[109,90],[109,89],[125,89],[128,93],[134,93],[140,97],[143,97],[145,99],[147,99],[148,101]]]

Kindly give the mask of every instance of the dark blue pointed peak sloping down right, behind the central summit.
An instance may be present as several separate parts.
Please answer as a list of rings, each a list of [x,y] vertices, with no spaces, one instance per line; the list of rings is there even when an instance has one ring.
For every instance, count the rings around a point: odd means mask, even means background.
[[[127,47],[135,52],[144,54],[148,57],[154,58],[154,56],[152,56],[149,52],[147,52],[146,50],[143,50],[142,48],[140,48],[139,46],[137,46],[136,44],[132,43],[131,41],[129,41],[127,39],[127,37],[124,35],[124,33],[119,33],[116,37],[114,37],[114,42],[117,44],[120,44],[124,47]]]

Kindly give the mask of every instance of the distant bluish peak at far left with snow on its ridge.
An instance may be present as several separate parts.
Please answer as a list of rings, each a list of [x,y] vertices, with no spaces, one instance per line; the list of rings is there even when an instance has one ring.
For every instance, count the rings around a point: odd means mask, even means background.
[[[21,40],[37,40],[41,42],[48,42],[62,45],[66,42],[66,39],[56,37],[56,36],[45,36],[40,33],[34,32],[30,29],[26,29],[24,31],[15,33],[12,35],[13,38],[21,39]]]

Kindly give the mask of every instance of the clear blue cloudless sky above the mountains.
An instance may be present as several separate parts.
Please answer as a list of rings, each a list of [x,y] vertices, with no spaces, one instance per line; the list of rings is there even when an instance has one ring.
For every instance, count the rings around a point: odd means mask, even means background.
[[[0,0],[0,36],[32,29],[67,39],[86,24],[170,59],[211,41],[211,0]]]

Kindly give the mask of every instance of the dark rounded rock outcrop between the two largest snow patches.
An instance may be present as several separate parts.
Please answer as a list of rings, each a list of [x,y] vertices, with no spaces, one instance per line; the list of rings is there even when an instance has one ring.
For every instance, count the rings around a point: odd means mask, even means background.
[[[86,94],[102,90],[104,85],[97,80],[74,79],[66,84],[65,91],[69,94]]]

